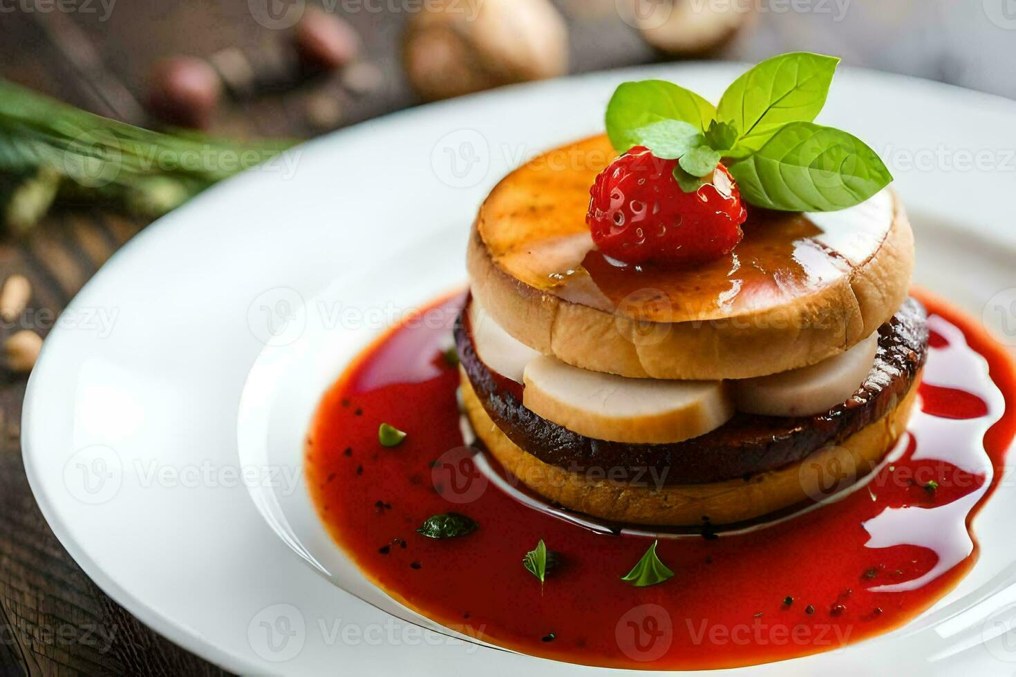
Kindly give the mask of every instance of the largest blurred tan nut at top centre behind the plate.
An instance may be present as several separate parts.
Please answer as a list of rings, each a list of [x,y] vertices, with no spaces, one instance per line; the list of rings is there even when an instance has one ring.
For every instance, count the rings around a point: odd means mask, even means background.
[[[437,0],[425,6],[406,24],[402,60],[426,99],[568,70],[568,29],[549,0]]]

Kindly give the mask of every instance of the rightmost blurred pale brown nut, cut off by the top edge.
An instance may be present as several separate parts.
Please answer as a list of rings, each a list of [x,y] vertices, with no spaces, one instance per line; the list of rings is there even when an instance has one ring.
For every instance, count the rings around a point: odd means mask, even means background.
[[[639,3],[639,0],[630,0]],[[748,20],[750,10],[738,3],[665,0],[650,11],[635,12],[643,40],[678,57],[704,56],[723,47]]]

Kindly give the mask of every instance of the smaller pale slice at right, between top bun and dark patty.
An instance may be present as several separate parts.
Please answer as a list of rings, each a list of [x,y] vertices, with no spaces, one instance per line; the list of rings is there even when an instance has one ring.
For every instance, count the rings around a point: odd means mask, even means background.
[[[865,382],[875,362],[875,332],[849,350],[818,364],[757,379],[733,381],[739,411],[765,416],[812,416],[842,404]]]

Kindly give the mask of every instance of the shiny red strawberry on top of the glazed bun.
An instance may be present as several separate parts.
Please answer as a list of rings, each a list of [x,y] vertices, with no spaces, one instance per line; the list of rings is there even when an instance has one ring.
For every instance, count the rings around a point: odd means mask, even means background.
[[[596,177],[585,221],[604,254],[629,264],[687,266],[718,259],[741,242],[748,212],[726,167],[718,164],[697,191],[685,193],[674,178],[677,164],[635,146]]]

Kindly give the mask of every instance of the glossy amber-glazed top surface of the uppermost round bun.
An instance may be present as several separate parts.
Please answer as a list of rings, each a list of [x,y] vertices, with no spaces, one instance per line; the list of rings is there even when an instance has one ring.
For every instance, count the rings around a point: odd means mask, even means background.
[[[589,188],[616,155],[597,136],[541,155],[502,181],[477,219],[495,265],[564,300],[633,320],[717,320],[821,294],[868,262],[893,223],[889,191],[840,212],[750,209],[744,241],[717,261],[618,267],[595,250],[585,223]]]

